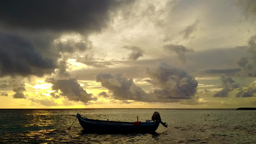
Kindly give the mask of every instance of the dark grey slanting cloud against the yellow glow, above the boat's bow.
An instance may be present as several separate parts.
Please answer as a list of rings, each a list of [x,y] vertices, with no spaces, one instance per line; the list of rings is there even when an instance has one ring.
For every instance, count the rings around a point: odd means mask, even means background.
[[[69,80],[55,80],[54,78],[47,78],[45,80],[47,83],[53,84],[51,86],[52,90],[56,93],[58,90],[61,91],[61,96],[68,98],[73,101],[81,101],[83,103],[88,103],[91,100],[97,100],[92,94],[88,94],[81,86],[77,83],[76,79]],[[53,94],[51,94],[52,96]]]

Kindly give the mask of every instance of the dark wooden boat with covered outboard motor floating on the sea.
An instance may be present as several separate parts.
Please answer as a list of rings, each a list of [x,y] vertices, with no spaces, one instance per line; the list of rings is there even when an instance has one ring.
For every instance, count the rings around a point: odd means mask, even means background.
[[[157,112],[158,113],[158,112]],[[155,114],[155,113],[154,113]],[[158,113],[159,115],[159,113]],[[154,116],[154,115],[153,115]],[[160,117],[160,115],[159,115]],[[92,120],[81,117],[77,114],[79,123],[85,132],[96,133],[153,133],[158,129],[159,123],[164,124],[161,120],[146,120],[146,122],[124,122],[124,121],[109,121],[109,120]],[[152,122],[151,122],[152,121]]]

